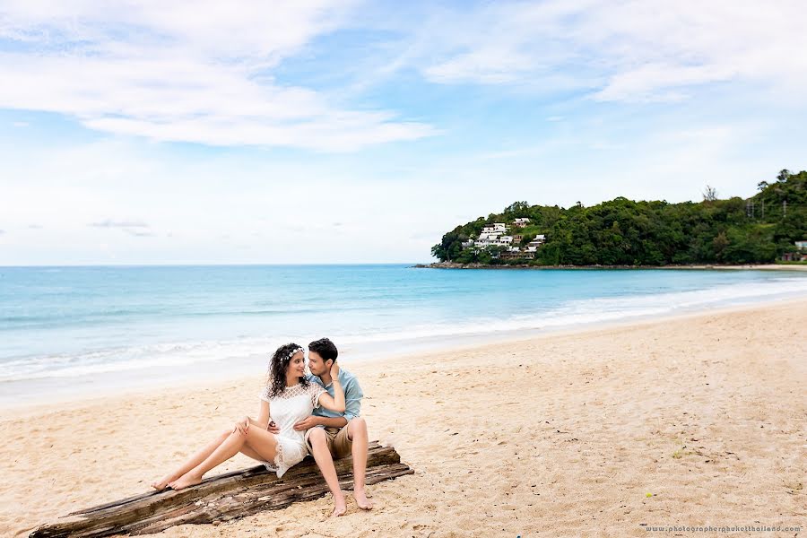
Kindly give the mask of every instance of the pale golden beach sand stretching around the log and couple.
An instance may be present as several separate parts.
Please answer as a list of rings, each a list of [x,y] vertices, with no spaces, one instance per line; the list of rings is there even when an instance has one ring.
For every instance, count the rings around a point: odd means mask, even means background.
[[[369,486],[369,513],[350,499],[346,516],[329,519],[327,496],[159,535],[804,528],[805,328],[802,299],[394,360],[345,357],[364,388],[370,438],[392,443],[415,474]],[[264,368],[239,382],[4,412],[0,535],[148,490],[216,432],[255,416]],[[253,464],[238,456],[217,471]]]

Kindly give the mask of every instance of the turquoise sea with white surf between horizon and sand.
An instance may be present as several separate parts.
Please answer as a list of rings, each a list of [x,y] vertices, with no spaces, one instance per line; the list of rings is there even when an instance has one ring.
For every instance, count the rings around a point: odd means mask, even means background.
[[[807,273],[408,265],[0,267],[0,406],[807,296]],[[347,360],[347,359],[346,359]]]

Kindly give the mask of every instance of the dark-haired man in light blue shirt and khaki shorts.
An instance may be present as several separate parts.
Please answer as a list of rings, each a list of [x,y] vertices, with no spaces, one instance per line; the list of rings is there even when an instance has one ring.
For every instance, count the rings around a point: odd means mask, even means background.
[[[334,395],[331,366],[336,361],[339,351],[333,342],[321,338],[308,344],[308,369],[311,375],[308,381],[323,386],[329,395]],[[361,392],[359,382],[350,372],[340,369],[339,381],[344,390],[344,413],[328,411],[317,407],[314,414],[294,425],[295,430],[308,430],[306,440],[308,451],[314,456],[325,483],[334,495],[333,516],[342,516],[345,506],[344,494],[339,487],[336,476],[334,457],[353,456],[353,499],[363,510],[373,508],[365,492],[365,473],[367,471],[367,422],[359,416],[361,409]],[[270,430],[271,431],[271,430]]]

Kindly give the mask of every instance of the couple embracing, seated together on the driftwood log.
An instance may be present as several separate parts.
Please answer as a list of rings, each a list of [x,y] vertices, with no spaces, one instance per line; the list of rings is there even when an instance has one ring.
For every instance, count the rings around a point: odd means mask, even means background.
[[[202,482],[202,476],[239,452],[263,462],[278,478],[311,453],[334,495],[333,516],[347,509],[336,476],[334,457],[353,456],[353,498],[359,508],[372,504],[365,494],[367,424],[360,418],[361,387],[351,373],[336,364],[338,351],[322,338],[305,350],[287,343],[274,351],[266,386],[260,395],[258,418],[245,417],[232,430],[191,456],[174,473],[159,482],[156,490],[182,490]]]

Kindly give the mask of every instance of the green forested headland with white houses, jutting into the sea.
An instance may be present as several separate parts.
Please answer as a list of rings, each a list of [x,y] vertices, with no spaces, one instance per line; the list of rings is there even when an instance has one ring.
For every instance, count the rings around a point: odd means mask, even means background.
[[[509,226],[525,218],[526,226],[508,232],[520,239],[510,248],[544,236],[532,259],[505,259],[503,247],[468,245],[495,222]],[[782,170],[772,182],[760,182],[749,198],[720,199],[707,187],[697,203],[618,197],[562,208],[516,202],[457,226],[431,253],[441,262],[482,265],[762,264],[794,252],[794,243],[805,239],[807,171]]]

